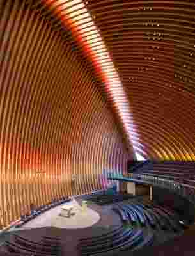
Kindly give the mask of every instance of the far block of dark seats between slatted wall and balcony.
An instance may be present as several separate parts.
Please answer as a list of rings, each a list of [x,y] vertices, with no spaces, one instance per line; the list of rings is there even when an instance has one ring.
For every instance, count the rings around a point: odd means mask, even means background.
[[[98,191],[85,196],[86,200],[95,202],[98,205],[113,204],[130,198],[132,198],[132,195],[121,194],[116,191],[112,191],[111,189],[100,192]]]

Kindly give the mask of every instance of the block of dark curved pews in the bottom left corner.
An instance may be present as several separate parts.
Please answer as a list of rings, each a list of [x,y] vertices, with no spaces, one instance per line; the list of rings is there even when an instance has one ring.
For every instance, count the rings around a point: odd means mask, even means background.
[[[15,239],[4,242],[5,255],[36,255],[58,256],[61,255],[61,239],[56,237],[43,237],[42,242],[31,241],[26,237],[14,235]]]

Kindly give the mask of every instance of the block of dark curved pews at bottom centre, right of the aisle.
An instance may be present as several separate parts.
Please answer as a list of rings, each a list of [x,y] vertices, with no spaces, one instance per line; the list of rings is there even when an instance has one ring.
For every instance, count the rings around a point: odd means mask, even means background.
[[[143,235],[143,230],[117,227],[96,237],[87,237],[79,240],[81,255],[115,255],[123,250],[138,249],[141,246],[153,243],[153,234]]]

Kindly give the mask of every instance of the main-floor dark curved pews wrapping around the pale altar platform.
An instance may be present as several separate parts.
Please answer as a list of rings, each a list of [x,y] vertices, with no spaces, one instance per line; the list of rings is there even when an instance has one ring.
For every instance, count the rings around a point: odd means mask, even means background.
[[[98,191],[94,194],[104,198],[105,195],[111,196],[111,191]],[[113,194],[116,195],[115,192]],[[86,195],[81,196],[81,202],[83,199],[86,199]],[[57,202],[53,205],[57,205]],[[185,225],[180,223],[177,212],[167,205],[159,205],[144,196],[130,195],[130,198],[113,202],[111,207],[104,209],[109,209],[111,218],[115,216],[115,221],[109,221],[110,226],[107,229],[104,228],[105,226],[91,227],[86,234],[84,230],[77,230],[77,236],[75,236],[74,230],[68,230],[67,233],[67,230],[55,228],[51,229],[52,232],[45,230],[38,237],[35,234],[32,237],[26,236],[26,230],[22,230],[20,231],[22,233],[16,232],[10,236],[10,239],[4,241],[0,255],[3,253],[2,255],[8,256],[62,256],[73,248],[71,250],[75,255],[117,256],[121,252],[131,253],[152,244],[156,245],[160,243],[160,236],[166,236],[166,234],[168,237],[178,236],[185,229]],[[102,211],[104,212],[103,207]],[[116,214],[120,218],[117,218]],[[41,228],[38,228],[38,232],[39,229]],[[70,237],[68,242],[66,241],[67,234],[74,237],[71,242]],[[72,245],[67,247],[68,243]]]

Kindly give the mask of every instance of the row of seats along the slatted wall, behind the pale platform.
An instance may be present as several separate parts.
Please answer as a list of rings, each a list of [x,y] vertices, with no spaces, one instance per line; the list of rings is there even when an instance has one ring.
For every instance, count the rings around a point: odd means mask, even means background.
[[[48,211],[49,209],[56,207],[57,205],[64,204],[65,202],[70,202],[72,198],[69,198],[68,196],[63,196],[60,199],[52,200],[48,204],[41,205],[40,207],[36,208],[35,210],[31,211],[31,214],[25,214],[21,216],[21,220],[17,225],[16,228],[22,227],[25,223],[28,221],[31,221],[36,218],[36,216],[42,214],[45,211]]]

